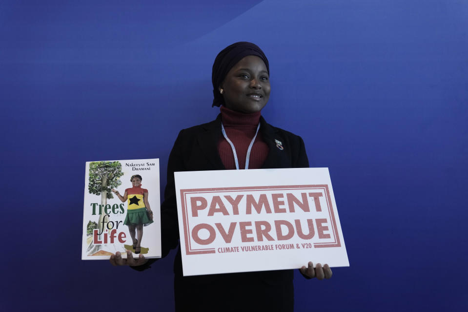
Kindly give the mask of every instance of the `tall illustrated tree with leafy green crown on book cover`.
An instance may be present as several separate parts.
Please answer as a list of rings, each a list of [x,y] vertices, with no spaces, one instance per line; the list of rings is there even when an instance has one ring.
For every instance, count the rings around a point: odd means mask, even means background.
[[[122,182],[119,178],[123,175],[122,164],[115,162],[92,162],[89,164],[88,191],[90,194],[101,195],[101,205],[107,204],[107,199],[114,198],[112,188],[119,187]],[[104,213],[99,215],[98,229],[102,229],[109,222],[109,217],[104,220]],[[102,235],[102,234],[101,234]],[[101,235],[99,239],[101,240]],[[102,245],[91,245],[88,248],[88,254],[93,254],[102,249]]]

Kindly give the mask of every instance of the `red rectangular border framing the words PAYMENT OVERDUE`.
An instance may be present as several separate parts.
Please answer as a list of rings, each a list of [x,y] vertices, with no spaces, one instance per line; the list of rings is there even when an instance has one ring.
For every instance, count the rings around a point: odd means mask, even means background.
[[[215,253],[214,248],[207,249],[192,249],[190,230],[188,225],[188,211],[187,211],[187,196],[188,194],[202,194],[202,193],[218,193],[218,192],[238,192],[248,190],[297,190],[297,189],[310,189],[310,190],[323,190],[326,198],[326,206],[328,208],[328,215],[331,222],[331,232],[333,234],[333,241],[314,243],[315,248],[330,248],[330,247],[341,247],[340,236],[338,235],[338,227],[336,225],[335,211],[331,202],[330,191],[328,185],[283,185],[283,186],[268,186],[268,187],[213,187],[213,188],[188,188],[181,189],[181,203],[182,203],[182,222],[183,222],[183,239],[185,241],[185,252],[186,254],[204,254],[204,253]]]

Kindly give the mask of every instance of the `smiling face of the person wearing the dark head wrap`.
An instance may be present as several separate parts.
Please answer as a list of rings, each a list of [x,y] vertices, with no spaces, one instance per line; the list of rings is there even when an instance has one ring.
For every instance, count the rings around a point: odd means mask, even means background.
[[[244,57],[229,70],[220,89],[227,108],[242,113],[262,110],[270,97],[265,63],[255,55]]]

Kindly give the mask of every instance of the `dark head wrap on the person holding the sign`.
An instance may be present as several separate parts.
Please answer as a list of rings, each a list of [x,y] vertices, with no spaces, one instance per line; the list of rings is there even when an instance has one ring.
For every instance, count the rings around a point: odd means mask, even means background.
[[[270,74],[268,59],[266,58],[265,53],[263,53],[262,49],[260,49],[257,45],[245,41],[236,42],[229,45],[218,54],[218,56],[215,59],[215,62],[213,63],[211,81],[213,83],[214,100],[212,106],[220,106],[224,104],[223,95],[220,94],[218,88],[221,85],[221,83],[223,83],[224,78],[226,77],[229,70],[247,55],[256,55],[260,57],[265,63],[268,75]]]

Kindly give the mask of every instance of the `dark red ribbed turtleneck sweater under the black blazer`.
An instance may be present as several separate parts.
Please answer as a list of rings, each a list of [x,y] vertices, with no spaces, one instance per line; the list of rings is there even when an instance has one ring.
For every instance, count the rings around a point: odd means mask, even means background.
[[[244,114],[221,106],[221,121],[223,122],[227,137],[234,144],[234,147],[236,147],[240,169],[245,168],[247,149],[257,131],[260,115],[261,112]],[[268,155],[269,148],[263,141],[260,131],[261,129],[258,130],[257,137],[250,151],[249,169],[260,168]],[[218,152],[226,169],[236,168],[232,148],[223,135],[221,135],[218,142]]]

